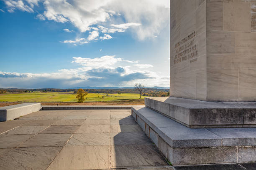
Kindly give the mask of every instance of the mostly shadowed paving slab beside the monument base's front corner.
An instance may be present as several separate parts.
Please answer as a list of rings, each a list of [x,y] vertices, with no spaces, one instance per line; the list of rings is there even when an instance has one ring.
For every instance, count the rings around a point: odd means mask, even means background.
[[[168,165],[154,145],[111,145],[111,168]]]

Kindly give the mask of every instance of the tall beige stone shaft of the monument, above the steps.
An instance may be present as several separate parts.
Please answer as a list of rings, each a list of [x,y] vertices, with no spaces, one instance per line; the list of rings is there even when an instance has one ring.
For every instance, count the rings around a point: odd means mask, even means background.
[[[170,96],[256,100],[256,1],[171,0]]]

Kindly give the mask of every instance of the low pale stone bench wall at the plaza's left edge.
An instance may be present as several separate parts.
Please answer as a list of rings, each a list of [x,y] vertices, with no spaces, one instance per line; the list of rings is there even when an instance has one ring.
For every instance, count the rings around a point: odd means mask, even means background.
[[[23,115],[37,112],[41,109],[40,103],[23,103],[0,107],[0,121],[13,120]]]

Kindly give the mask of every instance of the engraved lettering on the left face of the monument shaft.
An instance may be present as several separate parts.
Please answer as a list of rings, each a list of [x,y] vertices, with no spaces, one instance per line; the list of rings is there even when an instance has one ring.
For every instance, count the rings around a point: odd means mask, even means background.
[[[195,36],[196,35],[194,31],[174,45],[174,49],[175,49],[174,64],[180,63],[185,60],[189,60],[198,55],[197,45],[195,44],[195,40],[194,40]]]

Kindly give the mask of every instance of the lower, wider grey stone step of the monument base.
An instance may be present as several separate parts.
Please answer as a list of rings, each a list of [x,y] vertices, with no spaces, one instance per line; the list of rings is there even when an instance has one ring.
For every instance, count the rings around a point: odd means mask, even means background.
[[[256,162],[256,128],[188,128],[148,107],[132,115],[172,165]]]

